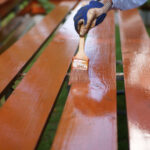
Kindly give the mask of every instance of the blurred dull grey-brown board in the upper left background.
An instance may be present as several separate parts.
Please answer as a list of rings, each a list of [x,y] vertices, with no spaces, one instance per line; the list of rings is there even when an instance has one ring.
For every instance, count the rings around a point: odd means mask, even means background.
[[[12,33],[12,35],[5,41],[5,43],[0,47],[0,54],[4,50],[8,49],[12,44],[14,44],[20,37],[22,37],[31,27],[35,25],[33,18],[30,16],[25,16],[22,20],[22,24]]]

